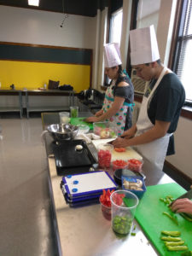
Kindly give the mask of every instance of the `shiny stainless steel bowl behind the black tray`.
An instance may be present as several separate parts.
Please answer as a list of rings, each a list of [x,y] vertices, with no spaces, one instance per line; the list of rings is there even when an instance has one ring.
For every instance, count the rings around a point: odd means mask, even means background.
[[[47,131],[55,141],[72,140],[78,134],[79,127],[70,124],[53,124],[47,126]]]

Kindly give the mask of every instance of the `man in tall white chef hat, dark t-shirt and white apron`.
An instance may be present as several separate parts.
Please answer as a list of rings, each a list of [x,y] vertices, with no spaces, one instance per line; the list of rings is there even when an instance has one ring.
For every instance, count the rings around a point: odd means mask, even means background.
[[[153,84],[149,84],[143,96],[137,124],[122,134],[125,138],[116,139],[113,146],[135,146],[154,164],[155,170],[161,171],[170,137],[177,128],[185,93],[177,76],[160,63],[154,26],[131,31],[130,41],[131,65],[137,76]],[[154,119],[149,118],[151,113]]]

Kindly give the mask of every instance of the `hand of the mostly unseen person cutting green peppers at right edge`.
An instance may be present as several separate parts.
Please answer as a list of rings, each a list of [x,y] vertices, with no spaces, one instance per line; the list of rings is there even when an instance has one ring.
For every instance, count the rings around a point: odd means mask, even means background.
[[[185,212],[192,214],[192,201],[188,198],[177,199],[172,203],[173,212]]]

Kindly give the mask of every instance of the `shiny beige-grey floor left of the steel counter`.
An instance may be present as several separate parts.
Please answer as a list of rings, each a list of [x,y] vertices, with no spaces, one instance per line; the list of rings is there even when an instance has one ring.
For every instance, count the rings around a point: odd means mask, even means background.
[[[41,119],[0,125],[0,255],[57,255]]]

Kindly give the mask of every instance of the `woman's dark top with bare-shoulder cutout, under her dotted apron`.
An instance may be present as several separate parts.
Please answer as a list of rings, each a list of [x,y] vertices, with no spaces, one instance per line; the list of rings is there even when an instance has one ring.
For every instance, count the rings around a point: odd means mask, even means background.
[[[124,81],[129,84],[127,86],[120,86],[118,84]],[[126,76],[119,76],[115,85],[113,86],[113,96],[119,96],[125,98],[125,102],[133,103],[134,101],[134,87],[131,83],[131,79]],[[130,129],[132,126],[132,111],[131,107],[127,108],[126,119],[125,119],[125,128],[124,131]]]

